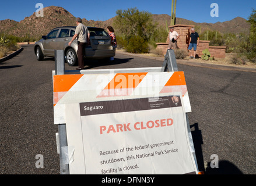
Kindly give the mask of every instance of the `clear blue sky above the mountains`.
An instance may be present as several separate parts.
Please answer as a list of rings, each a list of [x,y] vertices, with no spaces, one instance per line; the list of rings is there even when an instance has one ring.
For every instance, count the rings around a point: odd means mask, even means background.
[[[24,17],[31,16],[36,12],[37,3],[42,3],[44,7],[61,6],[75,17],[96,21],[104,21],[116,16],[115,12],[118,9],[127,10],[135,7],[140,11],[145,10],[152,14],[171,15],[171,0],[9,0],[0,3],[0,20],[12,19],[20,22]],[[212,3],[217,3],[219,6],[218,17],[211,16]],[[248,19],[253,8],[256,9],[254,0],[177,0],[176,16],[197,23],[216,23],[232,20],[238,16]]]

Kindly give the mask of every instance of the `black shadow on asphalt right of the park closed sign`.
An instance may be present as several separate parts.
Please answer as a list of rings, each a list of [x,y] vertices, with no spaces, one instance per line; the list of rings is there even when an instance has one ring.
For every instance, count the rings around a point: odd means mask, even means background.
[[[194,142],[195,155],[197,157],[199,171],[204,171],[205,174],[243,174],[243,172],[239,170],[235,164],[227,160],[220,160],[218,162],[218,168],[212,168],[211,162],[208,162],[205,169],[204,156],[202,153],[202,145],[204,144],[202,132],[199,130],[198,123],[192,124],[190,126],[190,128],[193,127],[194,130],[191,130],[191,134]]]

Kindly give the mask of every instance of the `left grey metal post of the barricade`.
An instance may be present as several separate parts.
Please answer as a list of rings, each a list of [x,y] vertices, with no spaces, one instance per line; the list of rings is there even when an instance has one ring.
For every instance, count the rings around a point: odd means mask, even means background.
[[[64,51],[55,50],[55,74],[64,75],[65,74],[65,56]],[[68,140],[66,138],[66,124],[58,125],[59,131],[59,163],[61,174],[69,174],[69,165],[64,164],[65,155],[62,152],[62,147],[68,146]]]

